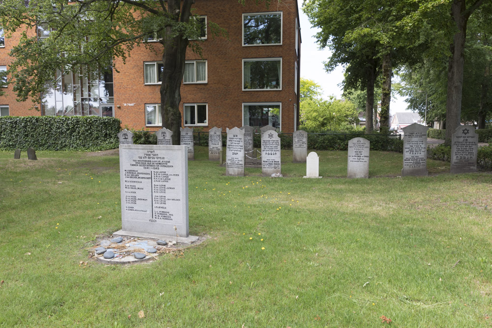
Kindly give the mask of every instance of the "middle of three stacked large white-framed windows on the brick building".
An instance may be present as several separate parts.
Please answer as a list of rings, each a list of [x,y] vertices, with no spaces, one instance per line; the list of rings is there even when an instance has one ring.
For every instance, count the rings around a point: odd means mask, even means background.
[[[282,89],[282,60],[244,59],[243,90]]]

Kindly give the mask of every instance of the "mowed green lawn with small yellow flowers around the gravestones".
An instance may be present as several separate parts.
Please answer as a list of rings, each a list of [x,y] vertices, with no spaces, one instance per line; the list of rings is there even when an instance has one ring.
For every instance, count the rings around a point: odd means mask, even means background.
[[[0,152],[0,326],[491,326],[489,173],[398,178],[402,155],[371,151],[371,179],[346,179],[347,152],[319,151],[323,179],[303,179],[285,150],[284,178],[233,178],[195,152],[207,239],[134,266],[85,250],[121,229],[117,152]]]

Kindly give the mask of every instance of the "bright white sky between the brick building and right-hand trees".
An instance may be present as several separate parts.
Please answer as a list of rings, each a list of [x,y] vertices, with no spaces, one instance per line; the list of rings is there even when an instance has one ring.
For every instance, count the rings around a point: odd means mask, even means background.
[[[320,29],[314,29],[311,27],[307,15],[303,12],[302,0],[298,0],[299,3],[299,15],[301,20],[301,77],[313,80],[321,86],[323,89],[322,97],[328,99],[329,96],[334,95],[337,99],[341,99],[343,92],[342,88],[338,85],[343,81],[344,69],[342,66],[338,66],[331,73],[327,73],[324,68],[324,61],[327,61],[331,56],[331,51],[324,49],[318,49],[316,39],[314,35]],[[390,104],[390,114],[400,112],[411,112],[406,109],[407,103],[403,97],[398,96],[397,99],[393,99]]]

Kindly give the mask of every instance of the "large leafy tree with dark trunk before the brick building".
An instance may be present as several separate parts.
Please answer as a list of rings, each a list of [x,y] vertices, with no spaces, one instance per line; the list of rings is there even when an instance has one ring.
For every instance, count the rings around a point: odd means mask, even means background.
[[[246,0],[238,0],[244,4]],[[270,0],[252,0],[256,3]],[[2,0],[0,26],[8,37],[22,31],[8,73],[19,100],[31,97],[52,84],[57,69],[89,70],[109,67],[112,60],[124,61],[142,40],[156,36],[164,46],[160,87],[162,125],[171,129],[179,145],[180,87],[187,48],[200,51],[203,28],[192,19],[194,0]],[[226,13],[224,13],[226,14]],[[51,31],[42,42],[32,30]],[[208,33],[221,33],[209,22]],[[197,40],[197,41],[190,41]],[[147,45],[148,46],[148,45]],[[114,67],[118,70],[118,67]],[[90,74],[90,72],[89,72]]]

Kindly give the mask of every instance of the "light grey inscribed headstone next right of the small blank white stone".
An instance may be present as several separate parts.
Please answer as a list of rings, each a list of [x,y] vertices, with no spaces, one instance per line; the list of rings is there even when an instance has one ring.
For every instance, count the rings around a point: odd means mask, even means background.
[[[369,178],[369,140],[348,141],[347,178]]]

